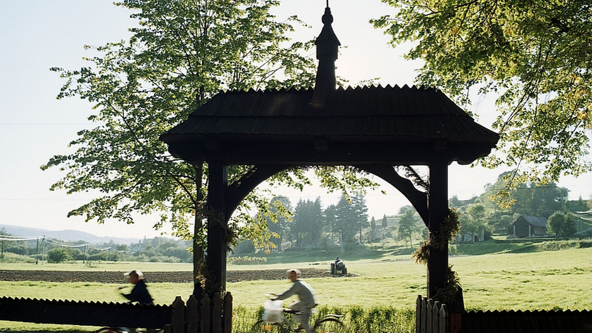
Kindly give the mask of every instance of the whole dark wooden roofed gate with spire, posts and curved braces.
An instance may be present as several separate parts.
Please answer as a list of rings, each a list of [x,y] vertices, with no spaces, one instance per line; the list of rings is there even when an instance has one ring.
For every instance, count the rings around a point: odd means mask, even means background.
[[[416,208],[430,234],[448,214],[448,165],[487,156],[499,139],[477,124],[440,90],[417,86],[336,89],[339,40],[330,8],[317,38],[314,88],[221,92],[188,119],[160,136],[173,156],[208,163],[208,205],[227,222],[240,201],[260,182],[297,166],[355,166],[400,190]],[[230,165],[253,166],[229,186]],[[429,168],[422,192],[394,166]],[[226,289],[224,225],[208,220],[207,268]],[[446,250],[430,251],[427,296],[448,274]]]

